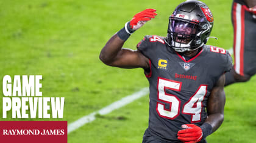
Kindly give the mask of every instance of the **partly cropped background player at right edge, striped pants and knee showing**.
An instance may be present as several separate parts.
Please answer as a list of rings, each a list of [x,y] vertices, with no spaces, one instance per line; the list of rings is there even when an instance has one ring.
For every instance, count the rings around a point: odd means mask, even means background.
[[[226,84],[246,82],[256,73],[256,0],[233,0],[233,70],[226,73]]]

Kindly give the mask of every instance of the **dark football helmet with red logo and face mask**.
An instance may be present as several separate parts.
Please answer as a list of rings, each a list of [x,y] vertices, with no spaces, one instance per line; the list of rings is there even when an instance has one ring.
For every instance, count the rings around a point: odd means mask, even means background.
[[[166,43],[176,52],[196,50],[206,44],[213,28],[213,15],[204,2],[185,1],[169,16]]]

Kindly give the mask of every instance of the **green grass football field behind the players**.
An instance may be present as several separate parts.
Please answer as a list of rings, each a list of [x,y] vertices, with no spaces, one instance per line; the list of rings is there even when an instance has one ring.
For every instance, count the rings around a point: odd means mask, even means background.
[[[166,36],[168,17],[182,1],[0,1],[0,78],[43,75],[43,97],[65,97],[68,124],[112,102],[148,87],[142,69],[108,67],[99,52],[108,39],[136,13],[157,9],[157,17],[133,33],[124,47],[136,49],[144,35]],[[215,24],[208,44],[233,44],[232,1],[204,1]],[[254,27],[255,28],[255,27]],[[0,82],[1,96],[2,82]],[[225,88],[225,119],[208,142],[256,142],[256,77]],[[68,142],[141,142],[148,127],[149,98],[144,96],[69,133]],[[32,119],[1,121],[31,121]]]

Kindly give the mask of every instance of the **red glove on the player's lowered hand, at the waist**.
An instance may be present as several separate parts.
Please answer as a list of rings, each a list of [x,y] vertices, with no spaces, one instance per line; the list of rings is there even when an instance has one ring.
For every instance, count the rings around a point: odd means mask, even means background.
[[[202,139],[202,129],[194,124],[182,125],[183,130],[178,131],[178,139],[186,143],[196,143]]]

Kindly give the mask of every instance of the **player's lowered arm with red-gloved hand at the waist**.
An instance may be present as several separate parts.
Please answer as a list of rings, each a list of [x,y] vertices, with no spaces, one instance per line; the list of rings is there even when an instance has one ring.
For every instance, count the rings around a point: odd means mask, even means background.
[[[216,131],[224,120],[224,105],[226,97],[224,93],[225,75],[223,74],[215,87],[213,87],[207,102],[208,117],[200,127],[194,124],[183,125],[183,130],[177,133],[178,139],[183,142],[199,142]]]

